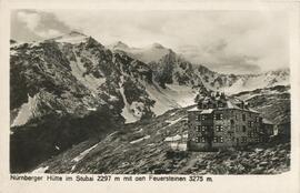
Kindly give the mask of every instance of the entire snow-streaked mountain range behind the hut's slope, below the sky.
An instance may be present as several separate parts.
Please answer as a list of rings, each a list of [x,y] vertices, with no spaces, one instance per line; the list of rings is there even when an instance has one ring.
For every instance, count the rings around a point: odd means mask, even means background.
[[[76,31],[40,42],[11,40],[12,169],[30,169],[94,133],[192,105],[204,88],[234,94],[288,85],[289,74],[221,74],[159,43],[106,47]]]

